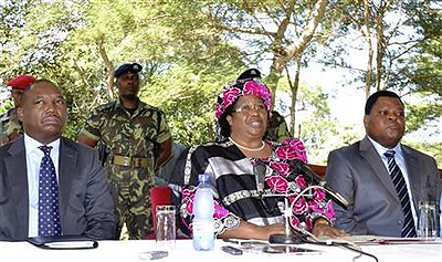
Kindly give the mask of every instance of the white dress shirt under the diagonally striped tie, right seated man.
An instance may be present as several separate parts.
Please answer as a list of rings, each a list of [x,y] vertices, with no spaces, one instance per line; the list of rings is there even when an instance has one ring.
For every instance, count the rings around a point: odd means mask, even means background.
[[[388,169],[388,158],[383,154],[387,150],[394,150],[396,151],[394,160],[396,160],[396,164],[401,169],[401,172],[403,175],[403,179],[406,180],[407,191],[408,191],[408,196],[410,198],[411,213],[413,216],[414,227],[415,227],[415,229],[418,229],[418,212],[417,212],[415,207],[414,207],[413,195],[411,193],[411,189],[410,189],[410,179],[408,178],[408,170],[407,170],[406,159],[403,158],[402,147],[401,147],[400,143],[398,143],[398,145],[396,145],[394,148],[386,148],[382,145],[380,145],[379,143],[377,143],[373,139],[371,139],[369,136],[367,136],[367,137],[371,142],[371,144],[375,146],[376,150],[378,151],[380,158],[383,161],[383,165],[386,165],[386,168],[387,168],[388,171],[389,171],[389,169]]]

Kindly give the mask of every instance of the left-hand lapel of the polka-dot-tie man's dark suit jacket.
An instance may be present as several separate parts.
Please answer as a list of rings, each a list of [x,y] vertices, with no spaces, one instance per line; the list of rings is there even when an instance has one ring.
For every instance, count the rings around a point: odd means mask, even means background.
[[[29,187],[23,136],[12,143],[8,153],[10,156],[4,158],[4,166],[9,181],[11,181],[17,211],[17,229],[20,231],[17,235],[27,238],[29,232]]]

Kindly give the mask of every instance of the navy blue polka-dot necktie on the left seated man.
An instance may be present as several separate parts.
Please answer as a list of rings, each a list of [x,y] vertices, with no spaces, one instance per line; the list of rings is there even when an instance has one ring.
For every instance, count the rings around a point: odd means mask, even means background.
[[[39,172],[39,235],[61,235],[59,185],[50,156],[52,147],[40,146],[39,149],[44,154]]]

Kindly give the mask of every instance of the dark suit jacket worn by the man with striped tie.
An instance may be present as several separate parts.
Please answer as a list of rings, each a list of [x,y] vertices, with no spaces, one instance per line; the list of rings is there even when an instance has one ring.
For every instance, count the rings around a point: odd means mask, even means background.
[[[435,160],[403,145],[402,154],[414,207],[421,200],[439,203],[441,189]],[[349,202],[348,210],[334,206],[338,228],[350,234],[401,237],[403,213],[398,195],[367,137],[328,155],[326,180]]]

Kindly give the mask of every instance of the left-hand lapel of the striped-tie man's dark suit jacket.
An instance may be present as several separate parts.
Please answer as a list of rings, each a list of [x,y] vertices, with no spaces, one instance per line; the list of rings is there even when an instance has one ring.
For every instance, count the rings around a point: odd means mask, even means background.
[[[391,181],[390,174],[388,172],[375,146],[371,144],[367,136],[360,142],[359,149],[360,155],[367,160],[372,170],[375,170],[375,175],[379,178],[382,186],[399,202],[398,193],[396,192],[394,185]]]

